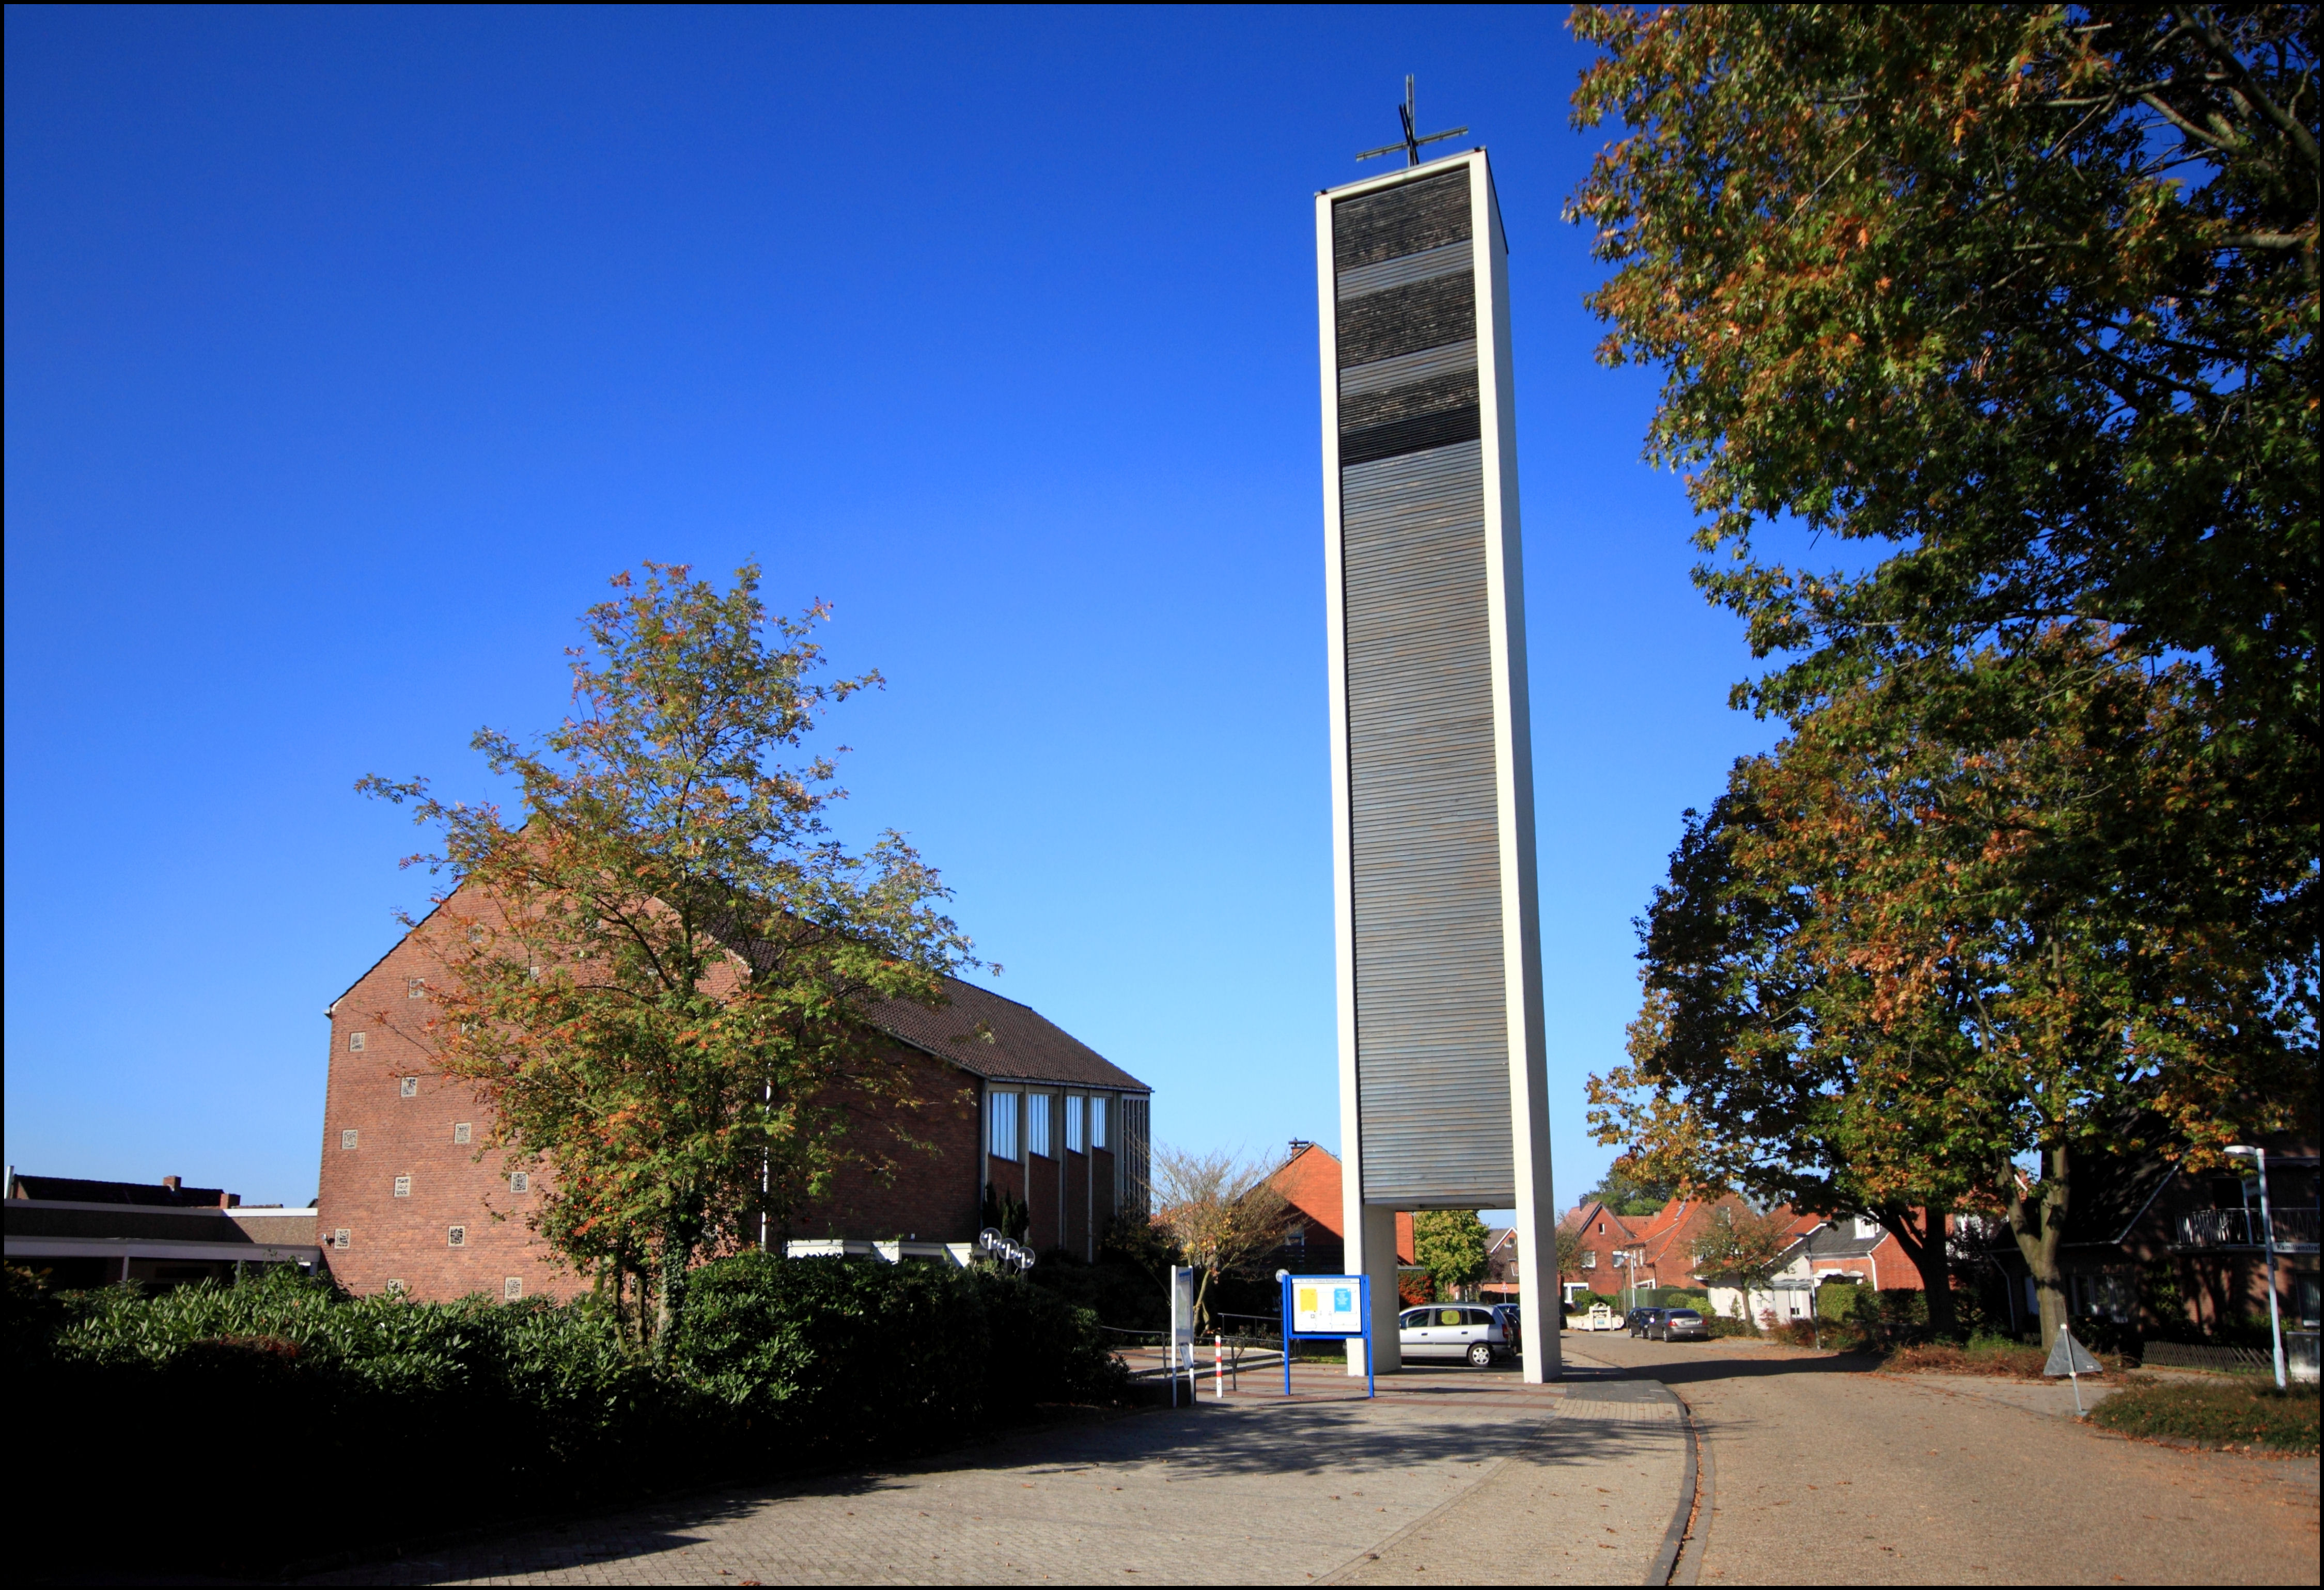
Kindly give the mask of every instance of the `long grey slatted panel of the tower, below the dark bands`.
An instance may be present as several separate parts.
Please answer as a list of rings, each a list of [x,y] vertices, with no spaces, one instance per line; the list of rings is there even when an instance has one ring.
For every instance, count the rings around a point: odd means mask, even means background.
[[[1473,439],[1341,467],[1362,1197],[1399,1209],[1515,1197],[1483,490]]]

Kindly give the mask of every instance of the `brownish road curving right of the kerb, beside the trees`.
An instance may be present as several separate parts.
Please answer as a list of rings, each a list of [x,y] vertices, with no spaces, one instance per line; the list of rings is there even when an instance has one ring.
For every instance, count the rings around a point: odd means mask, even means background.
[[[1694,1413],[1710,1511],[1680,1583],[2317,1581],[2315,1458],[2124,1441],[2075,1423],[2064,1383],[1873,1374],[1738,1341],[1569,1341]]]

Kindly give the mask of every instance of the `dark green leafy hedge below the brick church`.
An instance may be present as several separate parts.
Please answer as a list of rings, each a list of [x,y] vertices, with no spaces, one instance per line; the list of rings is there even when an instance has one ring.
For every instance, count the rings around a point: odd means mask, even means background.
[[[651,1488],[906,1455],[1120,1392],[1095,1318],[992,1272],[704,1265],[653,1365],[579,1304],[244,1285],[40,1292],[9,1272],[12,1413],[40,1432],[19,1516],[109,1567],[265,1571]],[[100,1476],[102,1483],[93,1483]],[[135,1506],[121,1481],[135,1481]],[[228,1525],[216,1485],[311,1476]]]

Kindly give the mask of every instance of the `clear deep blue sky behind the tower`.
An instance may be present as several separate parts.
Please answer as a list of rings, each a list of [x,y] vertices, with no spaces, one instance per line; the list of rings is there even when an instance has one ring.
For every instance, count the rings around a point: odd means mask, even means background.
[[[1557,1192],[1738,625],[1590,360],[1559,9],[7,12],[7,1160],[304,1202],[323,1007],[644,558],[830,600],[895,825],[1164,1141],[1336,1146],[1315,188],[1494,156]]]

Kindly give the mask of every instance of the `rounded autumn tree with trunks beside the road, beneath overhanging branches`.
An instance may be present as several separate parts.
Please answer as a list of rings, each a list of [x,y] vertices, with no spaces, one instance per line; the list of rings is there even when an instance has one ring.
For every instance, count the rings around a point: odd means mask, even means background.
[[[2192,665],[2052,635],[1971,674],[1850,690],[1736,765],[1655,895],[1592,1125],[1655,1174],[1899,1239],[1901,1209],[2006,1211],[2054,1332],[2075,1162],[2203,1165],[2305,1118],[2315,983],[2254,930],[2289,862],[2217,816]],[[1943,1244],[1913,1237],[1943,1330]]]

